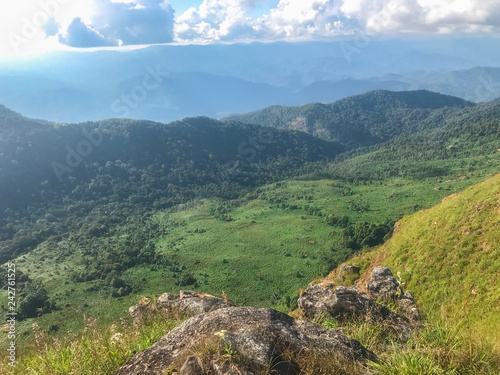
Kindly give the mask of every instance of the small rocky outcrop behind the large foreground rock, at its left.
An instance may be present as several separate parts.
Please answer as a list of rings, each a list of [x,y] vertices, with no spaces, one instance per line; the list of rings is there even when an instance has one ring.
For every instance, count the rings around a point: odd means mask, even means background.
[[[129,308],[129,313],[135,325],[141,325],[160,313],[166,318],[189,318],[231,305],[230,301],[214,297],[210,294],[200,294],[181,290],[180,294],[164,293],[156,301],[143,301]]]

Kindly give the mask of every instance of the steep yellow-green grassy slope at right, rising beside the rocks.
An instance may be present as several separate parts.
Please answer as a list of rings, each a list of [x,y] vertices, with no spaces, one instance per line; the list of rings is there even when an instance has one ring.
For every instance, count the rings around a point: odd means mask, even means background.
[[[398,233],[353,260],[401,272],[427,319],[461,324],[500,349],[500,175],[405,217]],[[470,323],[469,323],[470,322]]]

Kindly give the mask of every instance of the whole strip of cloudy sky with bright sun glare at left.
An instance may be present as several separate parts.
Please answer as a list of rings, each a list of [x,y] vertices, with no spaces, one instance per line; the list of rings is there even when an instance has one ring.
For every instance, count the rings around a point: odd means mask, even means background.
[[[500,0],[2,0],[0,57],[53,49],[498,36]]]

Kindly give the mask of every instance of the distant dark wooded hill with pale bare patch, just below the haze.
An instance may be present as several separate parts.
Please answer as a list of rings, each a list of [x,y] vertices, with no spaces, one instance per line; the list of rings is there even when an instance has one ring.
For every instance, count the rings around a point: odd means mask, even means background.
[[[272,106],[228,120],[295,129],[346,147],[369,146],[401,134],[431,129],[436,118],[472,107],[463,99],[429,91],[372,91],[329,104]]]

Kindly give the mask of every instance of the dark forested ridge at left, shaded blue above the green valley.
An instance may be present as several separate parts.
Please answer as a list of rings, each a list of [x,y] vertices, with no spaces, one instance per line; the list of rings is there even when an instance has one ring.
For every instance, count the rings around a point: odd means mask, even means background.
[[[13,217],[34,223],[53,210],[65,216],[57,207],[64,210],[69,202],[85,210],[106,204],[140,204],[143,210],[230,198],[343,151],[300,132],[209,118],[65,125],[26,119],[5,107],[0,113],[3,261],[29,251],[57,227],[41,230],[29,244],[16,242],[15,225],[6,225]]]

